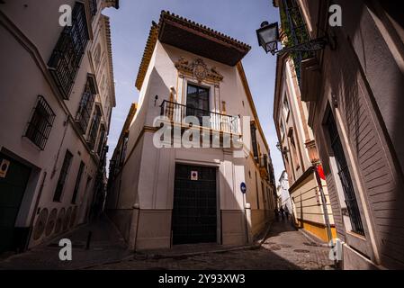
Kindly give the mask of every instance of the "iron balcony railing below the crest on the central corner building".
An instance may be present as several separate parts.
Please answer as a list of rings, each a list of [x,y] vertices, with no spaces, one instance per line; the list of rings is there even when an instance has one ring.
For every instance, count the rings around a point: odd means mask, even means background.
[[[201,126],[211,130],[218,130],[231,134],[241,134],[239,130],[239,117],[211,112],[191,106],[174,103],[164,100],[160,105],[161,116],[166,116],[170,121],[175,123],[190,124],[185,117],[194,116],[198,119],[198,123],[193,122],[193,126]]]

